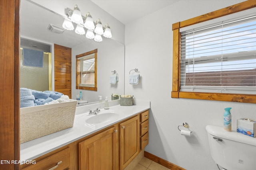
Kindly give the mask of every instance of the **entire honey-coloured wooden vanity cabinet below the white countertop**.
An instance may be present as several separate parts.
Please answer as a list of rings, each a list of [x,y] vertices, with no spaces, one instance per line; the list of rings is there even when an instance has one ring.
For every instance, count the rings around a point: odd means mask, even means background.
[[[123,170],[148,145],[148,110],[22,164],[21,170]]]

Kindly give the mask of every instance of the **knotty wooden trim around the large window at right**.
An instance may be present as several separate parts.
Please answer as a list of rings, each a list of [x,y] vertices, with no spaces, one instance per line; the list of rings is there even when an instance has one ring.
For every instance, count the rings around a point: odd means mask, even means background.
[[[208,14],[204,14],[189,20],[172,24],[173,31],[173,59],[172,59],[172,98],[189,98],[202,100],[216,100],[226,102],[256,103],[256,95],[253,94],[227,94],[205,92],[180,92],[180,28],[196,23],[212,20],[250,8],[256,8],[255,0],[247,0],[239,4],[228,6]]]

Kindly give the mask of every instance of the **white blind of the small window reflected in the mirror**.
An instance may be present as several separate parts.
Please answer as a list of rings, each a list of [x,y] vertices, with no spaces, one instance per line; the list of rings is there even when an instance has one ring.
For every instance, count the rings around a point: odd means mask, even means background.
[[[79,86],[95,87],[95,54],[78,58]]]

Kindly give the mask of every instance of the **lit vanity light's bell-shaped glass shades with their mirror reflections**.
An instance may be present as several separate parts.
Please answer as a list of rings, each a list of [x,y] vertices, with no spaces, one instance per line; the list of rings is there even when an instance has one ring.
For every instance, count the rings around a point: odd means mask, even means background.
[[[94,39],[94,41],[100,42],[102,41],[102,35],[106,38],[111,38],[111,30],[108,23],[105,25],[104,30],[102,27],[102,22],[100,19],[96,21],[96,24],[92,20],[92,16],[90,12],[86,13],[86,17],[81,15],[80,9],[77,5],[74,6],[74,10],[70,8],[65,9],[65,14],[67,18],[65,18],[62,27],[67,30],[73,30],[74,25],[72,22],[76,23],[75,32],[80,35],[85,34],[84,27],[87,29],[86,38]],[[95,26],[96,25],[96,26]]]

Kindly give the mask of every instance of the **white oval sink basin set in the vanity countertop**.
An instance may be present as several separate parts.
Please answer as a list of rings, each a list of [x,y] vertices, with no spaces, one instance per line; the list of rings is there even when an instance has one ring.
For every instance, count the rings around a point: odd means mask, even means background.
[[[122,113],[120,111],[100,111],[100,113],[95,115],[89,115],[89,118],[86,119],[86,123],[89,124],[98,124],[98,123],[106,123],[108,121],[113,121],[118,119]]]

